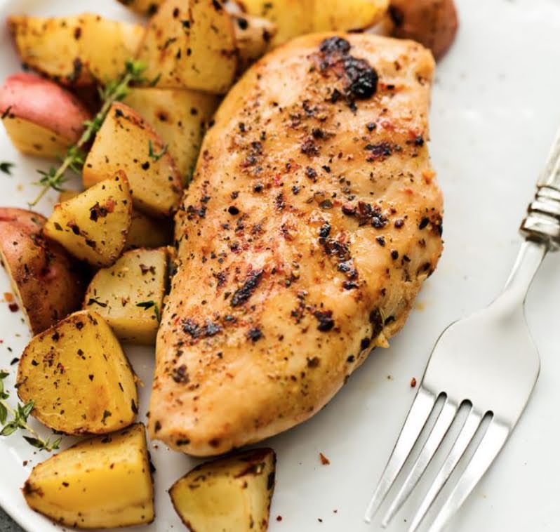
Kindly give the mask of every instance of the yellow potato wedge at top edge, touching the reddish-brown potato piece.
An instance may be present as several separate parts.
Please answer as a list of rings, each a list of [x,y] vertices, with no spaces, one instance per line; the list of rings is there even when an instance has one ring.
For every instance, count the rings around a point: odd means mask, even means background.
[[[364,29],[377,24],[387,8],[389,0],[315,0],[313,31]]]

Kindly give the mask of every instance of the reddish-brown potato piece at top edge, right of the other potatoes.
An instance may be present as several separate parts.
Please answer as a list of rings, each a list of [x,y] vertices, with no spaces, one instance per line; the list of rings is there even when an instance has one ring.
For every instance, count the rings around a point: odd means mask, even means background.
[[[440,59],[455,39],[459,21],[453,0],[391,0],[392,35],[423,44]]]

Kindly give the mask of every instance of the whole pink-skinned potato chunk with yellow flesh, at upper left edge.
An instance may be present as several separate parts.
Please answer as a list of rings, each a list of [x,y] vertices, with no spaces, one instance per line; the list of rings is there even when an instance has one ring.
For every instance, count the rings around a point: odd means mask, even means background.
[[[77,142],[90,113],[53,81],[12,74],[0,88],[2,124],[20,152],[55,159]]]

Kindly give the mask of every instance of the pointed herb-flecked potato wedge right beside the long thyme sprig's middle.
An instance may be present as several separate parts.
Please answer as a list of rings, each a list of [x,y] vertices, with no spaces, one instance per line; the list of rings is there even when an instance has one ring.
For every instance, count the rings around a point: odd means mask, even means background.
[[[84,187],[124,171],[135,208],[171,216],[179,206],[182,180],[164,142],[140,114],[115,102],[95,135],[86,163]]]

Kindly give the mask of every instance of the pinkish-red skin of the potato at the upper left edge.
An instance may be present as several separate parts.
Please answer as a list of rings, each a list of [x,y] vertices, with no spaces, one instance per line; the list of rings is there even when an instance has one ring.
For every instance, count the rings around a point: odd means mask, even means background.
[[[9,109],[9,111],[8,111]],[[0,88],[0,112],[47,128],[69,144],[79,140],[91,113],[72,93],[35,74],[12,74]]]

